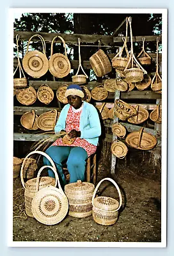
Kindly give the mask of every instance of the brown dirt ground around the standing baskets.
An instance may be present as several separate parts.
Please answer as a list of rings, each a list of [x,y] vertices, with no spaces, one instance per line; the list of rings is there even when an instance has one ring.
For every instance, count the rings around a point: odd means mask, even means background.
[[[144,157],[144,156],[143,156]],[[146,158],[145,158],[146,159]],[[20,178],[13,182],[13,241],[91,241],[91,242],[160,242],[161,241],[161,172],[144,158],[118,161],[116,174],[110,174],[106,161],[99,162],[97,182],[113,178],[123,195],[123,207],[115,225],[95,223],[92,216],[67,216],[57,225],[47,226],[24,214],[24,189]],[[100,194],[118,198],[111,182],[102,182]]]

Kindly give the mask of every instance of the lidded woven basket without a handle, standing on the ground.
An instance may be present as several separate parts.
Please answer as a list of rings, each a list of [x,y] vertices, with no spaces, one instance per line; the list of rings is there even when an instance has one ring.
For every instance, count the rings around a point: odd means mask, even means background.
[[[68,215],[86,218],[92,214],[92,196],[95,186],[90,182],[77,182],[65,185],[65,194],[69,201]]]

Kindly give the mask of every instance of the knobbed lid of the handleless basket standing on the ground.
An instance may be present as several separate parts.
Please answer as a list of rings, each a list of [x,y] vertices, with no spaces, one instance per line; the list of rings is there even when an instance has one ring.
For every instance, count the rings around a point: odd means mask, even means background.
[[[82,182],[81,180],[77,180],[77,182],[73,182],[65,185],[65,194],[67,196],[77,196],[77,195],[86,195],[88,193],[93,193],[94,184],[90,182]]]

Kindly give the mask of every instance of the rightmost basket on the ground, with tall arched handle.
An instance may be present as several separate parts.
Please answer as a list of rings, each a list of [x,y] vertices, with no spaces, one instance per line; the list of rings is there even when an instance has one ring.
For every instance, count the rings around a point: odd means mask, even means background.
[[[104,182],[104,180],[109,180],[114,184],[115,188],[118,191],[120,202],[118,202],[118,200],[116,200],[115,198],[111,198],[108,196],[97,196],[95,198],[97,189],[99,188],[100,184]],[[96,223],[106,226],[113,225],[116,223],[116,221],[118,220],[118,211],[122,206],[122,193],[120,191],[120,188],[116,184],[115,180],[111,178],[104,178],[100,180],[95,190],[93,191],[92,205],[92,216],[93,220]]]

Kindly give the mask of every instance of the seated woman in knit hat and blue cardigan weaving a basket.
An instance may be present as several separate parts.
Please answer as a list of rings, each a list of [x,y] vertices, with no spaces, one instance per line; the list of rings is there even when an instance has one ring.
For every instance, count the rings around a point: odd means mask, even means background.
[[[45,151],[56,164],[62,186],[67,184],[62,169],[62,162],[67,160],[67,169],[70,173],[70,183],[77,180],[84,181],[86,159],[97,150],[101,134],[100,119],[97,109],[90,103],[83,101],[84,93],[81,86],[71,84],[67,87],[65,97],[68,104],[63,107],[54,131],[65,131],[72,144],[58,138]],[[50,165],[43,157],[43,163]],[[54,177],[52,170],[48,171]]]

